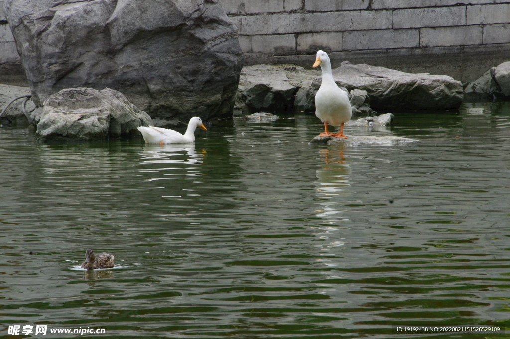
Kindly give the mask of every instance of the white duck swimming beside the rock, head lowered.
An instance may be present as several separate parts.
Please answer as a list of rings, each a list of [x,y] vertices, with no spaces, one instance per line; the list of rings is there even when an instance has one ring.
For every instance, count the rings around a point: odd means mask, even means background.
[[[196,127],[207,131],[206,126],[202,124],[202,119],[198,117],[191,118],[188,123],[186,133],[182,135],[179,132],[172,131],[172,129],[159,128],[159,127],[138,127],[138,131],[142,133],[143,140],[147,144],[191,144],[195,142],[195,129]]]

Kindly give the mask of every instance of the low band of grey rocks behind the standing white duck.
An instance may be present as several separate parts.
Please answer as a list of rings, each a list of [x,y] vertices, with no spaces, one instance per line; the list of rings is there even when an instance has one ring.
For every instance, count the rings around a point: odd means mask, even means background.
[[[353,115],[367,115],[373,110],[454,109],[464,97],[461,82],[447,75],[345,63],[333,70],[333,76],[337,85],[349,92]],[[236,100],[237,114],[314,111],[320,83],[320,71],[299,66],[244,67]]]

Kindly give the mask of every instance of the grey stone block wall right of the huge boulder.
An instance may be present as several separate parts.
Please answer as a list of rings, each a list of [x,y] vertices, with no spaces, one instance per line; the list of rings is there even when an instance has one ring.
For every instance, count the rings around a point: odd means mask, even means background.
[[[247,64],[344,60],[471,81],[510,60],[510,0],[219,0]]]

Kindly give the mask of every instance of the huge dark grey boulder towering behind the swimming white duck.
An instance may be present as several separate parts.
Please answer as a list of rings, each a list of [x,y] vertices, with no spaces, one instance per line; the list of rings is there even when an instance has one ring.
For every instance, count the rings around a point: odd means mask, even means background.
[[[228,117],[242,67],[218,0],[6,0],[37,105],[64,88],[122,92],[153,117]]]

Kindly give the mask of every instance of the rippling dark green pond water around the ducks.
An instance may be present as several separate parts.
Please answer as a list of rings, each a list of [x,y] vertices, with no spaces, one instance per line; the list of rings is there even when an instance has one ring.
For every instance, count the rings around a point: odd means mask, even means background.
[[[0,128],[0,337],[503,338],[510,105],[395,113],[401,144],[310,145],[315,116],[195,145]],[[87,272],[85,250],[116,267]],[[47,334],[9,335],[9,325]],[[508,326],[506,334],[393,326]],[[50,334],[55,328],[104,334]]]

